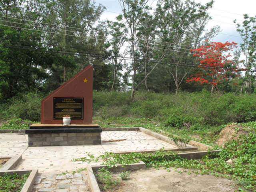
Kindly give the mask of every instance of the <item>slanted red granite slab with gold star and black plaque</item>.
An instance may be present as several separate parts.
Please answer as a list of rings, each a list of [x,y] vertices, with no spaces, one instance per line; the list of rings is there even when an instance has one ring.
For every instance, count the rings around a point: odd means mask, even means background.
[[[69,115],[72,124],[92,123],[92,73],[88,66],[41,102],[41,124],[62,124]]]

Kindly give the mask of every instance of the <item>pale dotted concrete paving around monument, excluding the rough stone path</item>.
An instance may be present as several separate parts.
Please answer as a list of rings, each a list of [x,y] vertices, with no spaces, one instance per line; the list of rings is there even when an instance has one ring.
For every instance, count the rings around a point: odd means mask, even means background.
[[[102,132],[102,140],[119,142],[102,142],[101,145],[88,146],[40,146],[27,147],[28,136],[19,134],[0,134],[1,155],[22,155],[22,160],[15,169],[38,169],[39,173],[62,173],[84,168],[87,162],[74,162],[73,158],[86,157],[87,153],[100,156],[108,152],[124,152],[138,150],[159,150],[176,148],[174,145],[138,131],[106,131]],[[19,147],[17,148],[16,145]],[[91,162],[97,165],[99,162]]]

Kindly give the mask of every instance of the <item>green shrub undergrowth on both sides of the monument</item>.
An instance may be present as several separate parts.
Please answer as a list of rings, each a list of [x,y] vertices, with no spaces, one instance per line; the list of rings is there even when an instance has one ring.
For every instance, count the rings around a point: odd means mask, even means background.
[[[20,118],[40,121],[41,100],[44,96],[29,92],[2,101],[0,119]],[[166,127],[219,126],[229,122],[256,120],[255,94],[214,94],[202,92],[152,93],[138,91],[134,101],[130,92],[97,92],[93,96],[94,118],[149,118]]]

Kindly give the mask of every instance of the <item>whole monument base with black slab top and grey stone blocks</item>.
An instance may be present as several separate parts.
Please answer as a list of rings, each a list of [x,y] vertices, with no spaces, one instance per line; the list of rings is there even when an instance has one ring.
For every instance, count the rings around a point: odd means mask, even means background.
[[[98,124],[32,124],[25,130],[28,146],[65,146],[100,144]]]

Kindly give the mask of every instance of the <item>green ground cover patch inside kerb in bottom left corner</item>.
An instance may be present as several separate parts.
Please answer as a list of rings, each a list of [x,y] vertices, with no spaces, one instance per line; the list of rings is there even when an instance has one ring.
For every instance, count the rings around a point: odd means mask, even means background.
[[[0,191],[1,192],[20,192],[24,186],[28,176],[30,174],[24,174],[19,176],[14,173],[13,175],[5,174],[0,177]]]

